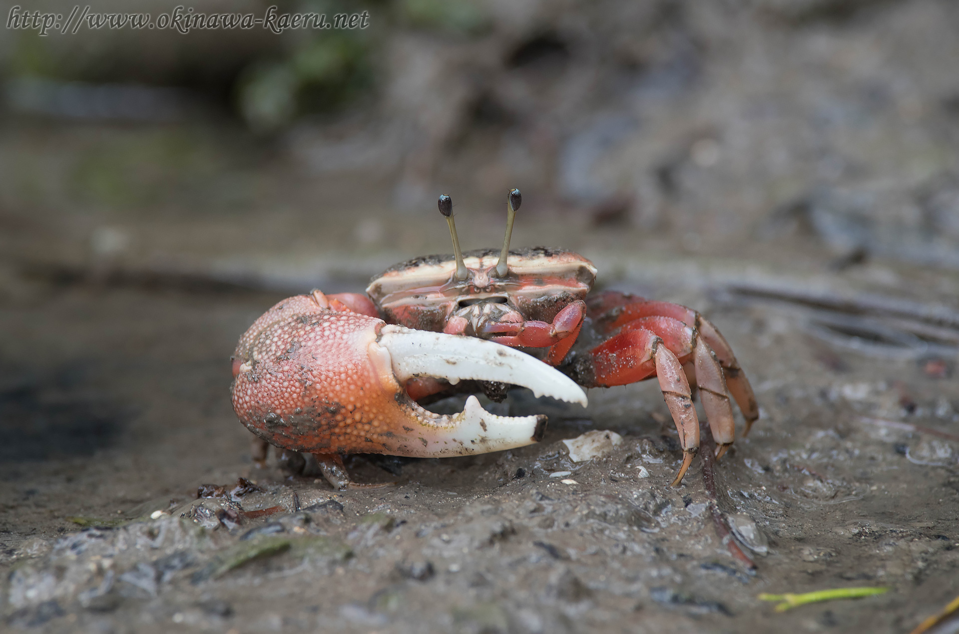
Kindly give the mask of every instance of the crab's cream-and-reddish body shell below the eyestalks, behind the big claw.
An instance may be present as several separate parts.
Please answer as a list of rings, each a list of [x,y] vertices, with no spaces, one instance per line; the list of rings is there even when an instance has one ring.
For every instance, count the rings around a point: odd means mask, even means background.
[[[584,299],[596,281],[593,263],[562,248],[509,251],[509,270],[496,274],[500,251],[463,254],[468,275],[456,280],[453,255],[426,255],[398,264],[366,287],[390,323],[442,332],[457,308],[479,302],[503,303],[526,319],[551,321],[573,301]]]

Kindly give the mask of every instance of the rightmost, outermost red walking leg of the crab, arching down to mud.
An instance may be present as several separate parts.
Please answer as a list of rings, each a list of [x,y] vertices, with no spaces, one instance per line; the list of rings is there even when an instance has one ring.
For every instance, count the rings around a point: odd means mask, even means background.
[[[753,423],[760,417],[760,410],[753,394],[753,388],[749,385],[749,380],[746,379],[746,375],[739,367],[733,349],[706,317],[679,304],[667,301],[649,301],[642,297],[617,291],[607,291],[596,295],[595,298],[591,298],[588,308],[590,317],[596,320],[597,329],[601,332],[612,332],[640,317],[656,316],[672,317],[695,328],[699,333],[699,339],[708,343],[710,348],[713,349],[716,361],[722,367],[726,387],[736,400],[739,411],[742,412],[742,417],[746,421],[743,436],[749,434]],[[722,442],[718,436],[716,439],[718,442]]]

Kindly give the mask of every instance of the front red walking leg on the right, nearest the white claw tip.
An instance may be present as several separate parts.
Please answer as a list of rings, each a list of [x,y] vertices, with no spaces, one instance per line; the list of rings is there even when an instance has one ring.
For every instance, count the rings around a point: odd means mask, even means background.
[[[640,327],[620,332],[577,358],[573,373],[576,383],[586,387],[625,386],[653,375],[659,379],[683,448],[683,465],[672,482],[678,485],[699,449],[699,418],[683,365],[664,340]]]

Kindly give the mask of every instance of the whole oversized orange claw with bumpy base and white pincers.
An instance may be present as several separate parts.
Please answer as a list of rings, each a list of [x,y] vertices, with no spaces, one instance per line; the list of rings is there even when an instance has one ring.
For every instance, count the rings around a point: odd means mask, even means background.
[[[316,454],[463,456],[539,440],[546,416],[497,416],[476,397],[441,415],[412,401],[414,376],[496,381],[586,404],[571,379],[499,343],[391,326],[299,295],[274,306],[240,340],[233,407],[271,444]]]

